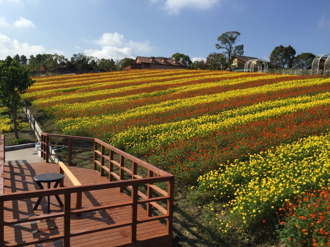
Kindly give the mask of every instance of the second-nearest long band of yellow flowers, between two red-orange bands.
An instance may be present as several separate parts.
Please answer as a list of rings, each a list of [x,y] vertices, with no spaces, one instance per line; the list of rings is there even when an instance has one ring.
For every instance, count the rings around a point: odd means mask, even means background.
[[[212,116],[204,115],[196,119],[192,118],[174,123],[128,128],[115,135],[109,141],[112,141],[114,145],[121,144],[125,148],[139,146],[139,149],[145,150],[155,148],[159,144],[172,143],[174,140],[223,130],[228,126],[268,119],[282,114],[290,114],[328,103],[330,103],[329,92],[313,96],[299,96],[266,101],[248,107],[224,111]]]

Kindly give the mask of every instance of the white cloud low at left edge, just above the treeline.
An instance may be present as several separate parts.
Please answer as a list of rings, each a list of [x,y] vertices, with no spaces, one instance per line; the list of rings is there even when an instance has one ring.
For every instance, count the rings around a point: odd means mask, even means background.
[[[0,59],[5,59],[7,56],[19,55],[37,55],[37,54],[54,54],[64,55],[62,51],[57,49],[46,50],[43,46],[33,46],[27,43],[20,43],[18,40],[11,40],[9,37],[0,33]]]

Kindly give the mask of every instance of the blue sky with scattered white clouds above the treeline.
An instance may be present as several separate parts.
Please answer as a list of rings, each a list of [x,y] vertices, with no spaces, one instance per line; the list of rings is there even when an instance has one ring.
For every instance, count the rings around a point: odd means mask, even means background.
[[[84,53],[98,58],[205,59],[226,31],[244,55],[268,59],[279,45],[330,53],[329,0],[0,0],[0,59]]]

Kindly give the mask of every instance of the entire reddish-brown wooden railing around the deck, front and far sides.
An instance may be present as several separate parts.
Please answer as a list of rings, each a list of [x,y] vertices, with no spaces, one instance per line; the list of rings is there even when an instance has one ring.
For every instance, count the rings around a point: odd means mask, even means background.
[[[49,137],[57,137],[57,138],[67,138],[68,146],[60,146],[60,145],[52,145],[49,144]],[[93,149],[88,148],[78,148],[72,146],[72,140],[87,140],[93,142]],[[20,224],[24,222],[33,222],[37,220],[45,220],[55,217],[64,217],[63,220],[63,233],[58,235],[52,235],[47,237],[41,237],[38,239],[24,239],[22,242],[12,242],[7,243],[4,246],[24,246],[28,244],[37,244],[46,241],[55,241],[57,239],[63,239],[63,246],[70,246],[70,237],[79,236],[83,234],[99,232],[124,226],[130,226],[130,242],[135,242],[137,240],[137,224],[150,222],[155,220],[166,219],[167,225],[167,234],[172,235],[172,226],[173,226],[173,201],[174,201],[174,176],[165,172],[147,162],[144,162],[134,156],[131,156],[117,148],[112,147],[111,145],[102,142],[100,139],[96,138],[87,138],[87,137],[79,137],[79,136],[68,136],[68,135],[55,135],[42,133],[41,135],[41,154],[42,157],[49,162],[49,146],[52,147],[60,147],[60,148],[68,148],[68,155],[57,155],[59,157],[67,157],[68,164],[71,165],[72,159],[83,159],[83,160],[91,160],[93,161],[93,169],[96,169],[97,166],[100,166],[100,175],[104,176],[105,171],[109,173],[109,182],[108,183],[99,183],[99,184],[87,184],[87,185],[79,185],[78,183],[74,183],[74,186],[69,187],[59,187],[53,189],[44,189],[38,191],[25,191],[25,192],[17,192],[17,193],[9,193],[0,196],[0,244],[4,243],[4,226]],[[101,151],[98,151],[98,148]],[[87,151],[93,151],[93,158],[82,158],[72,156],[73,149],[82,149]],[[109,156],[105,155],[105,149],[109,149]],[[114,156],[117,154],[119,156],[119,162],[114,160]],[[125,167],[125,159],[131,162],[131,169]],[[109,167],[106,166],[105,161],[109,162]],[[65,172],[68,176],[70,174],[70,170],[64,165],[60,164],[61,172]],[[114,165],[118,167],[118,174],[114,172]],[[138,175],[139,166],[146,168],[148,170],[147,178],[143,178]],[[129,178],[124,180],[124,172],[129,174]],[[114,181],[116,179],[117,181]],[[74,181],[74,180],[72,180]],[[156,186],[156,183],[167,183],[167,191]],[[75,186],[76,185],[76,186]],[[139,186],[146,186],[146,194],[139,190]],[[95,190],[104,190],[118,188],[119,192],[123,192],[124,188],[128,188],[130,190],[130,200],[120,203],[112,203],[102,206],[92,206],[87,208],[82,208],[81,205],[81,194],[86,191],[95,191]],[[157,192],[160,196],[155,196]],[[77,198],[80,194],[80,198],[76,202],[76,209],[71,210],[71,194],[76,193]],[[53,195],[64,195],[64,209],[63,213],[51,213],[48,215],[41,215],[36,217],[26,217],[23,219],[14,219],[11,221],[4,221],[4,202],[6,201],[14,201],[14,200],[23,200],[28,198],[37,198],[44,196],[53,196]],[[141,199],[142,198],[142,199]],[[164,208],[157,202],[159,201],[167,201],[167,207]],[[80,203],[80,204],[79,204]],[[138,218],[138,205],[146,204],[147,210],[145,217],[139,216]],[[70,221],[71,215],[80,216],[83,213],[87,213],[90,211],[97,210],[105,210],[115,207],[122,206],[130,206],[130,220],[125,222],[107,225],[105,227],[96,227],[85,229],[84,231],[71,231],[70,230]],[[158,209],[162,215],[152,216],[152,206]]]

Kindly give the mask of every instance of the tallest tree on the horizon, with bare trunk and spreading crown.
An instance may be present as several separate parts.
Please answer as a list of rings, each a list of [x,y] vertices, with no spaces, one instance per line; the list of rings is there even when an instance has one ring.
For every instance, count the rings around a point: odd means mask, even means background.
[[[220,41],[220,44],[215,44],[216,49],[226,50],[223,54],[226,57],[228,66],[232,64],[234,56],[244,54],[244,45],[234,47],[235,43],[240,42],[240,40],[238,40],[240,35],[241,33],[238,31],[224,32],[217,39],[217,41]]]

